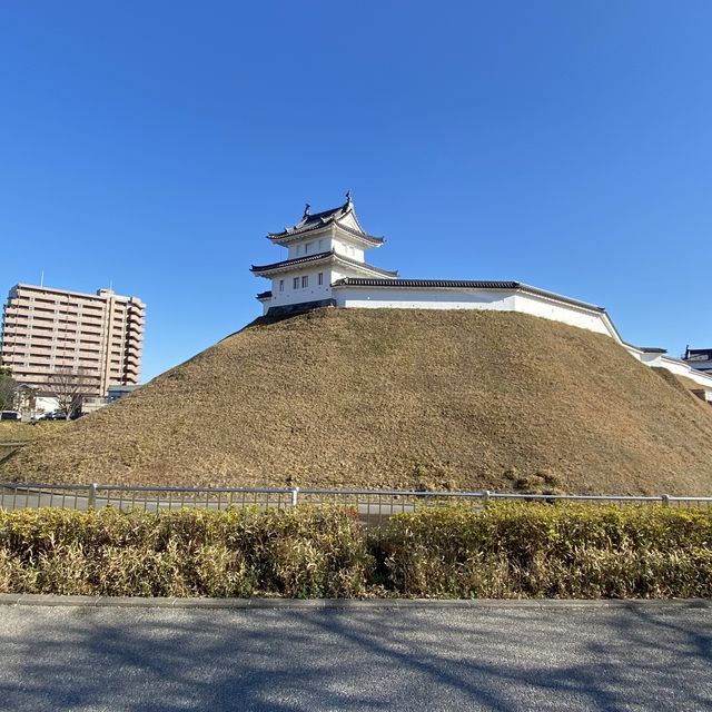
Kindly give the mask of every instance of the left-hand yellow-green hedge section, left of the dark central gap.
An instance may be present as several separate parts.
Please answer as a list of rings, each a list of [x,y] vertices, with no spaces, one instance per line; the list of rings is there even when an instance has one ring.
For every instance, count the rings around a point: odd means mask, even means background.
[[[0,513],[0,592],[358,596],[372,565],[336,507]]]

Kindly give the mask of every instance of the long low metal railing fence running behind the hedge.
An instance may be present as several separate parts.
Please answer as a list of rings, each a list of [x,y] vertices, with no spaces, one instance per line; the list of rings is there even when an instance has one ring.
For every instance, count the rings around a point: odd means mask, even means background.
[[[400,512],[452,502],[465,502],[482,508],[488,502],[578,502],[589,505],[653,505],[674,507],[711,507],[712,497],[672,495],[551,495],[501,492],[402,492],[396,490],[314,490],[269,487],[127,487],[120,485],[55,485],[37,483],[0,483],[0,508],[59,507],[92,510],[111,506],[122,511],[180,510],[198,507],[229,510],[257,506],[286,508],[307,502],[315,505],[340,504],[352,507],[366,525],[378,526]]]

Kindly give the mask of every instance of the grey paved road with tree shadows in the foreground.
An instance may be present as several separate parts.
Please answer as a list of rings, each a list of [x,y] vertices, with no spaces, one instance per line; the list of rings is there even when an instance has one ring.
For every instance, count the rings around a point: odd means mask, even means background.
[[[0,708],[709,710],[712,609],[0,606]]]

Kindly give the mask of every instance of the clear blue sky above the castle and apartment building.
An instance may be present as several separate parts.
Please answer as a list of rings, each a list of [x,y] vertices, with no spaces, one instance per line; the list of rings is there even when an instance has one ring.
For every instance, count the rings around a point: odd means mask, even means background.
[[[260,313],[354,191],[403,277],[517,279],[712,346],[712,2],[0,4],[0,290],[148,304],[150,378]]]

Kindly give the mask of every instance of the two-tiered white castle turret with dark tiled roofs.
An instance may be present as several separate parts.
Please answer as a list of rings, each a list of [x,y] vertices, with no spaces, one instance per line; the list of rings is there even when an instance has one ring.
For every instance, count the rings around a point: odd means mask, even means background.
[[[368,235],[360,226],[350,190],[343,206],[312,215],[307,205],[300,222],[281,233],[270,233],[267,238],[286,247],[288,255],[285,260],[251,267],[253,274],[271,280],[271,289],[257,295],[265,314],[336,306],[336,283],[398,276],[366,263],[366,250],[380,247],[384,239]]]

